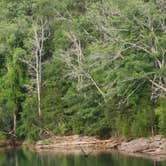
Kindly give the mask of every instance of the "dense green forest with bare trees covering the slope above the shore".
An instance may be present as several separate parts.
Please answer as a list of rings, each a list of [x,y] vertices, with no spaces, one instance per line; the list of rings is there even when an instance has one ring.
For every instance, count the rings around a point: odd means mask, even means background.
[[[1,0],[0,139],[166,135],[165,0]]]

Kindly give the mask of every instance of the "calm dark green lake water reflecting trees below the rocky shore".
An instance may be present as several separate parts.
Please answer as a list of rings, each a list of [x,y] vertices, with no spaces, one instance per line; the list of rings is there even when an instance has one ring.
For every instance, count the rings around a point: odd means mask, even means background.
[[[85,157],[15,150],[0,152],[0,166],[166,166],[166,162],[110,153]]]

